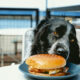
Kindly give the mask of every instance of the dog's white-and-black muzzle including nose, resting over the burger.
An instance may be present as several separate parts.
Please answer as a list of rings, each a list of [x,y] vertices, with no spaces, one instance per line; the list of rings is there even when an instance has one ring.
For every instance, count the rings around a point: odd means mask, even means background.
[[[56,46],[56,47],[55,47]],[[69,49],[63,44],[53,45],[52,48],[48,51],[49,54],[58,54],[63,56],[66,60],[69,57]]]

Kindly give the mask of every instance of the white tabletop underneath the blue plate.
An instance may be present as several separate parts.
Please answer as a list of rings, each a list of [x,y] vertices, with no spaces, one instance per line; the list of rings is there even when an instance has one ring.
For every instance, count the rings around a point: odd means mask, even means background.
[[[19,65],[0,67],[0,80],[37,80],[31,79],[19,70]],[[66,80],[80,80],[80,74]]]

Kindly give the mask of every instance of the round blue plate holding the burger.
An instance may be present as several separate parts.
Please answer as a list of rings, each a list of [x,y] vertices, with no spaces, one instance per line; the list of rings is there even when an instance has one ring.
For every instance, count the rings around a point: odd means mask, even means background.
[[[31,77],[31,78],[36,78],[36,79],[40,79],[40,80],[51,80],[51,79],[67,79],[67,78],[71,78],[71,77],[74,77],[76,75],[78,75],[80,73],[80,66],[79,65],[76,65],[76,64],[73,64],[73,63],[67,63],[67,67],[69,67],[69,71],[70,72],[70,75],[67,75],[67,76],[38,76],[38,75],[33,75],[33,74],[30,74],[28,72],[28,65],[24,63],[22,63],[20,66],[19,66],[19,69],[25,74],[27,75],[28,77]]]

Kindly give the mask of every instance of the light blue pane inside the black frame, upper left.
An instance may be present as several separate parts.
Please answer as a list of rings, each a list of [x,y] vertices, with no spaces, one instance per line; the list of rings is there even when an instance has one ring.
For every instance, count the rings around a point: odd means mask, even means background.
[[[34,24],[35,25],[35,24]],[[31,27],[29,16],[0,16],[0,28],[28,28]]]

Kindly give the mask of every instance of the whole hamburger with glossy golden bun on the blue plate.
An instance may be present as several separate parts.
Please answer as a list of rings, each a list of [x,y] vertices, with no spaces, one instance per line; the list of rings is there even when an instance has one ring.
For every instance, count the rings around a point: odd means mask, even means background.
[[[37,54],[25,60],[28,71],[40,76],[64,76],[68,75],[68,67],[64,57],[56,54]]]

